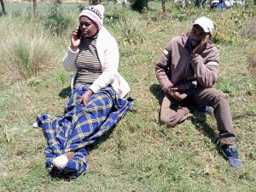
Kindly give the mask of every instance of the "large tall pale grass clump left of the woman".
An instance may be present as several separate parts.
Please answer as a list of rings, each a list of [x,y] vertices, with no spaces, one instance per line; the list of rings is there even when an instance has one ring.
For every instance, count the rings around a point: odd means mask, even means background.
[[[0,28],[2,80],[26,79],[55,62],[48,32],[44,31],[38,20],[8,16],[1,18]]]

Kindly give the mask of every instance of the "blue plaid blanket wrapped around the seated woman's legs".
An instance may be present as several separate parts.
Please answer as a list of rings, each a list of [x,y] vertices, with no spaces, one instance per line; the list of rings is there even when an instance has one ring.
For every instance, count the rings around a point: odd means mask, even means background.
[[[93,94],[87,106],[79,98],[89,87],[80,85],[70,93],[62,116],[49,116],[47,112],[37,118],[43,128],[48,146],[45,148],[46,167],[50,174],[76,178],[87,169],[87,151],[84,147],[94,144],[104,133],[116,126],[121,117],[131,110],[133,100],[119,99],[112,87]],[[68,151],[76,151],[67,167],[58,170],[52,160]]]

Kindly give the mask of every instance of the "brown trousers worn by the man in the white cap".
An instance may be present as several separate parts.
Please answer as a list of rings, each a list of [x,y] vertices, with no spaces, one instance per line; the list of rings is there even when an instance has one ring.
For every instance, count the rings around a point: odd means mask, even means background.
[[[194,88],[187,92],[187,98],[177,101],[166,95],[160,110],[160,121],[169,127],[191,116],[189,105],[208,105],[213,108],[222,144],[235,144],[236,134],[232,124],[230,104],[223,92],[215,88]]]

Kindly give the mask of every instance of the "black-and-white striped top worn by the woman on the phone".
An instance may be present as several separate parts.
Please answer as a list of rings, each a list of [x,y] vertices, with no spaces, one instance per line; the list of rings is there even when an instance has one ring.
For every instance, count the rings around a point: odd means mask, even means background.
[[[96,51],[96,38],[82,37],[79,55],[75,61],[78,74],[75,83],[92,84],[102,74],[102,65]]]

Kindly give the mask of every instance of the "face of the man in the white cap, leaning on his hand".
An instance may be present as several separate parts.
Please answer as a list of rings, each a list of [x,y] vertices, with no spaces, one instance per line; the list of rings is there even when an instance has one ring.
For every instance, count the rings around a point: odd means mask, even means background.
[[[200,42],[205,39],[208,35],[207,32],[203,31],[200,25],[193,25],[190,33],[190,42],[193,47],[196,47]]]

